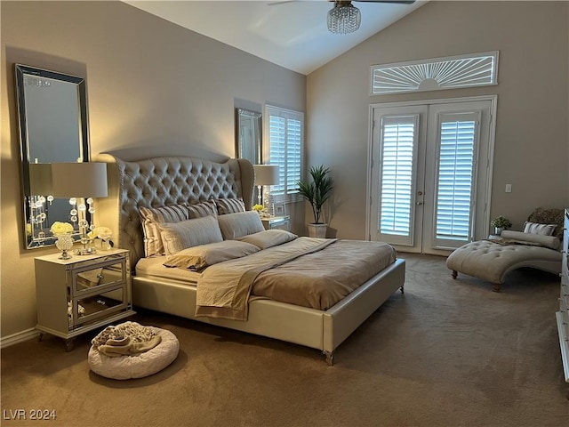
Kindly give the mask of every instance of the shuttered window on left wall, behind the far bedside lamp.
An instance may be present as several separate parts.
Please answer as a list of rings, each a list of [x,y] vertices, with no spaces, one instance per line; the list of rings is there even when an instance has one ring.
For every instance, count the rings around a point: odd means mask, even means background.
[[[279,182],[271,186],[276,202],[291,201],[298,193],[304,146],[304,114],[265,106],[263,163],[278,165]]]

